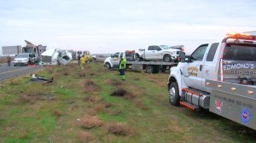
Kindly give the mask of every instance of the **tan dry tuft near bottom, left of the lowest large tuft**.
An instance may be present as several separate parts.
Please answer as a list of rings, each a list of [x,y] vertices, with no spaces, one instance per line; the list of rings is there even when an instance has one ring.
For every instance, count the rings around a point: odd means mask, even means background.
[[[102,120],[100,120],[99,117],[96,116],[83,117],[79,122],[80,127],[83,129],[93,129],[96,127],[101,127],[102,124]]]

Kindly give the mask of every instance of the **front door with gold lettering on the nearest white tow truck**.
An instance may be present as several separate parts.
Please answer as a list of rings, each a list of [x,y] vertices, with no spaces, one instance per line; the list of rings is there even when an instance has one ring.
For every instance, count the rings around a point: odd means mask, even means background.
[[[208,44],[203,44],[191,54],[191,62],[184,66],[184,82],[191,88],[202,89],[201,65]]]

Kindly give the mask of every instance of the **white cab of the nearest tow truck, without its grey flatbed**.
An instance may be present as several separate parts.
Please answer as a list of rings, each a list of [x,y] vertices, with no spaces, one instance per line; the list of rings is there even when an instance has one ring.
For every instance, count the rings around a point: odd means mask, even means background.
[[[189,58],[170,70],[169,100],[172,105],[178,106],[180,100],[184,100],[184,94],[191,91],[205,96],[204,100],[196,97],[194,101],[198,103],[195,106],[201,106],[201,101],[205,102],[201,107],[208,109],[212,89],[206,86],[206,80],[241,83],[242,79],[248,79],[254,83],[255,64],[254,36],[229,33],[218,43],[201,44]]]

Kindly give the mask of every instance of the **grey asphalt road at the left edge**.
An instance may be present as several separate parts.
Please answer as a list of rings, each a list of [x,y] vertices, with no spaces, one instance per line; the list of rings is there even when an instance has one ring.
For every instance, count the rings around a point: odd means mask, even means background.
[[[29,72],[37,71],[44,68],[44,66],[7,66],[4,64],[0,66],[0,81],[10,77],[20,76]]]

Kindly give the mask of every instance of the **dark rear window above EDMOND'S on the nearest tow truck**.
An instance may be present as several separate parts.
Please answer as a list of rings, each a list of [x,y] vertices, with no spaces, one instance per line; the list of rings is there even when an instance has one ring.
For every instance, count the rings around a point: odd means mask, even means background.
[[[223,59],[256,61],[256,45],[229,43],[224,49]]]

